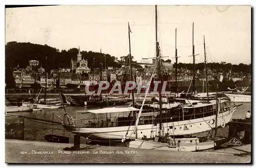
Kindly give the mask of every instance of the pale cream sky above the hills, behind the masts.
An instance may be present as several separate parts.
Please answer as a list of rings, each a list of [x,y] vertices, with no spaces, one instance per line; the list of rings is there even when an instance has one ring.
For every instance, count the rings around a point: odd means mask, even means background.
[[[178,62],[193,63],[192,29],[196,63],[251,63],[250,6],[158,6],[158,41],[163,59],[175,62],[177,28]],[[6,43],[47,44],[56,49],[82,51],[120,58],[131,53],[136,61],[155,57],[155,6],[101,5],[48,6],[6,9]]]

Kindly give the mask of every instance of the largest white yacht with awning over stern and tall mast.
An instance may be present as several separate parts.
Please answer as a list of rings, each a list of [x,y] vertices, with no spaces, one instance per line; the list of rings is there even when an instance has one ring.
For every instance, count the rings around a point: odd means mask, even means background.
[[[129,29],[130,30],[130,29]],[[158,67],[161,81],[161,52],[157,39],[157,7],[156,7],[156,57],[157,62],[152,72],[151,80]],[[151,82],[150,82],[151,83]],[[147,87],[146,95],[149,87]],[[69,123],[63,127],[75,134],[90,139],[109,139],[129,141],[132,139],[156,138],[168,135],[190,135],[225,127],[238,106],[231,104],[230,100],[217,99],[207,102],[194,102],[178,104],[174,108],[162,108],[161,85],[159,89],[159,108],[156,111],[142,110],[135,107],[104,108],[87,110],[90,117],[87,119],[74,119],[69,116]],[[217,103],[218,102],[218,103]],[[70,121],[71,119],[71,121]],[[125,137],[124,137],[125,136]]]

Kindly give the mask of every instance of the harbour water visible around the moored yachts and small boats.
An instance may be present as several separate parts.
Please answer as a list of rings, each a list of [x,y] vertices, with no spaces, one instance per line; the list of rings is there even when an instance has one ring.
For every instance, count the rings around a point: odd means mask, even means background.
[[[65,110],[76,119],[76,111],[84,111],[87,109],[97,109],[94,108],[87,108],[87,107],[72,107],[67,106],[65,109],[43,109],[42,111],[33,111],[33,112],[16,112],[16,113],[8,113],[12,115],[22,115],[31,118],[39,118],[45,119],[47,121],[55,121],[61,122],[61,119],[57,117],[57,115],[52,115],[52,112],[57,112],[63,118]],[[248,110],[251,110],[251,103],[245,103],[242,106],[239,106],[236,112],[234,112],[232,118],[245,118],[245,114]],[[77,118],[88,118],[90,117],[90,113],[83,113],[77,112]],[[67,119],[66,119],[67,122]],[[45,135],[47,134],[54,134],[54,135],[61,135],[67,136],[70,138],[70,143],[74,142],[74,134],[71,132],[66,131],[61,124],[51,124],[42,121],[35,121],[30,118],[25,118],[25,131],[24,131],[24,140],[32,140],[32,141],[46,141]],[[208,132],[207,132],[208,133]],[[207,133],[198,133],[197,136],[205,136]],[[228,134],[227,126],[225,128],[218,129],[219,135],[226,135]],[[81,137],[81,143],[86,143],[86,138]]]

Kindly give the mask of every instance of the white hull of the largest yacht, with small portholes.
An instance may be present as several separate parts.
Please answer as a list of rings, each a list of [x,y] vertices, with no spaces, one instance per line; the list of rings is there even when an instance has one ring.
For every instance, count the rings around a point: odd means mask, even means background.
[[[237,106],[232,107],[223,113],[220,113],[217,126],[225,126],[227,123],[229,123],[230,118],[236,109]],[[189,135],[205,132],[215,128],[215,122],[212,122],[212,119],[215,119],[215,117],[215,115],[211,115],[186,121],[163,123],[162,130],[164,134],[169,133],[169,135]],[[126,132],[127,138],[141,139],[144,135],[147,138],[154,138],[158,135],[159,132],[159,124],[138,125],[137,132],[135,134],[132,134],[135,126],[131,126],[130,128],[129,126],[85,128],[82,125],[63,125],[63,127],[72,133],[80,134],[83,137],[90,137],[90,139],[121,139],[126,134]]]

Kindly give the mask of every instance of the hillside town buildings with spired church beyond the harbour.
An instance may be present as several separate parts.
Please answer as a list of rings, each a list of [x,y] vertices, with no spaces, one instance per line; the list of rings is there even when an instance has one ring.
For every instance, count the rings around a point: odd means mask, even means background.
[[[133,68],[134,79],[137,84],[145,85],[150,79],[148,70],[155,64],[155,61],[142,59],[138,64],[140,68]],[[84,87],[88,85],[90,81],[121,81],[130,80],[129,66],[122,65],[121,68],[113,68],[111,66],[103,66],[100,68],[89,68],[88,60],[82,58],[80,53],[80,47],[77,53],[77,59],[71,59],[70,68],[58,68],[51,69],[50,73],[45,73],[45,68],[41,66],[38,60],[30,60],[26,68],[13,68],[13,77],[15,79],[15,85],[17,88],[30,88],[34,83],[40,84],[41,87],[51,88],[68,88],[68,87]],[[168,76],[168,81],[175,81],[175,68],[173,63],[163,62],[165,74]],[[193,71],[190,69],[180,68],[177,69],[178,81],[191,81],[193,80]],[[216,75],[216,69],[207,68],[208,80],[214,80]],[[250,74],[232,73],[232,76],[228,73],[228,70],[223,70],[223,75],[227,79],[232,78],[236,81],[250,81]],[[203,70],[197,70],[196,80],[205,80],[205,73]],[[108,79],[109,78],[109,79]],[[69,85],[73,84],[73,85]]]

